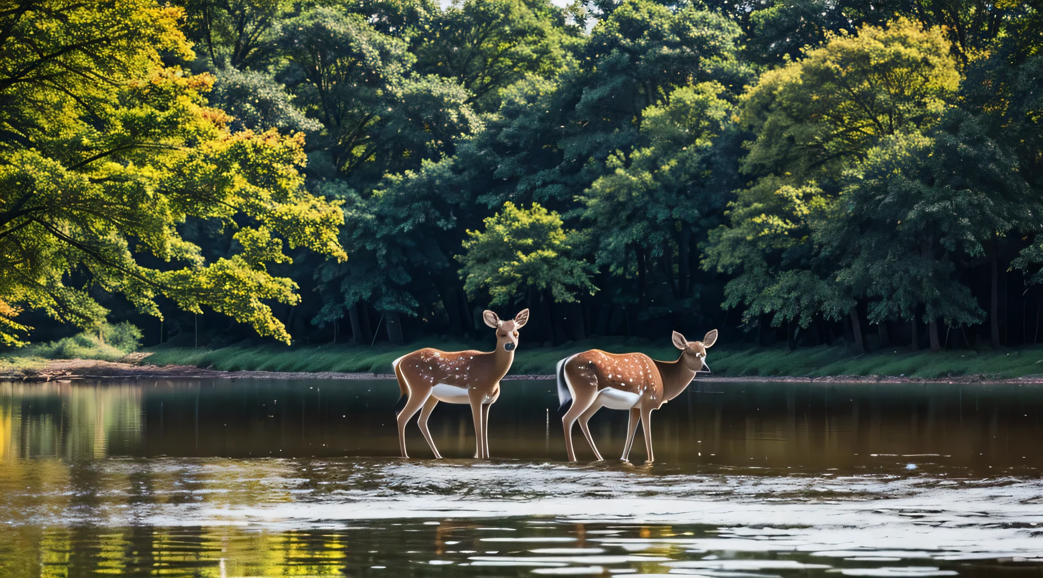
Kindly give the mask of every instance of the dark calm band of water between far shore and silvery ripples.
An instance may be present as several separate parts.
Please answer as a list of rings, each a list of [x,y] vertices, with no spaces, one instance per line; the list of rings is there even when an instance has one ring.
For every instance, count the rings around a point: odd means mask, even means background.
[[[511,381],[490,421],[493,456],[562,459],[552,381]],[[392,381],[168,381],[0,384],[0,459],[55,456],[394,456]],[[978,475],[1039,468],[1043,386],[696,383],[654,414],[663,461],[770,468],[946,464]],[[591,430],[617,455],[626,417]],[[447,457],[474,452],[469,410],[440,404]],[[411,455],[430,451],[415,426]],[[635,443],[641,450],[640,436]],[[582,442],[581,459],[592,454]],[[635,457],[639,458],[640,453]],[[995,473],[995,472],[992,472]]]

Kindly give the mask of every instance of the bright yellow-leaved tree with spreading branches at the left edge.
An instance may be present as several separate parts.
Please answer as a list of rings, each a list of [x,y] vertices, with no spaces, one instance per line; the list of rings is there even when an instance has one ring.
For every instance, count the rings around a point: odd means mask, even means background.
[[[106,311],[90,284],[156,317],[163,295],[288,342],[268,305],[299,299],[267,271],[288,260],[283,240],[346,258],[338,204],[309,194],[297,171],[301,137],[232,132],[203,102],[212,77],[163,64],[192,56],[178,8],[30,7],[0,27],[0,340],[21,343],[20,307],[96,327]],[[235,229],[237,250],[205,262],[178,233],[186,219]]]

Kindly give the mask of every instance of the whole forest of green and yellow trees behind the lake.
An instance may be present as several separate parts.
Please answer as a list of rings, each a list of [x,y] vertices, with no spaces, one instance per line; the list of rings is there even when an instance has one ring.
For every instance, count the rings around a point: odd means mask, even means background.
[[[1036,0],[4,0],[0,337],[1034,344],[1041,47]]]

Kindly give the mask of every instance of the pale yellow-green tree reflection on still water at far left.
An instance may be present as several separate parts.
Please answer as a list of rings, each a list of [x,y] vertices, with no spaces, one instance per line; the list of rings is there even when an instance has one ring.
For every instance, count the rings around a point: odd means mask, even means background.
[[[0,459],[129,455],[141,437],[139,386],[0,384]]]

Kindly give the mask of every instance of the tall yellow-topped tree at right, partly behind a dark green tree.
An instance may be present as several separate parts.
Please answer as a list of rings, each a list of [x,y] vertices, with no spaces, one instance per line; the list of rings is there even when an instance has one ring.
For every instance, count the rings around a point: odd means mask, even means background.
[[[828,34],[802,59],[762,74],[744,97],[744,122],[757,134],[744,168],[760,177],[729,205],[731,224],[713,231],[704,260],[742,269],[725,305],[745,303],[747,320],[773,313],[776,326],[847,315],[860,348],[859,291],[838,284],[815,231],[834,215],[847,172],[881,141],[936,124],[959,82],[943,30],[905,19]]]

